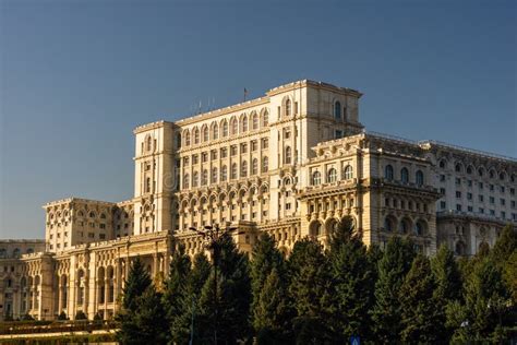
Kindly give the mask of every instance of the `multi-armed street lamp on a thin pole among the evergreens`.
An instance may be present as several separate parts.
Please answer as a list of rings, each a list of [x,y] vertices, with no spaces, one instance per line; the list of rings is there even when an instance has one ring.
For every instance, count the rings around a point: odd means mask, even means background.
[[[220,228],[219,225],[215,224],[214,226],[205,225],[203,229],[197,229],[195,227],[189,228],[192,231],[195,231],[202,236],[205,248],[212,252],[212,258],[214,262],[214,344],[217,345],[217,317],[218,317],[218,298],[217,298],[217,269],[219,265],[219,253],[220,253],[220,239],[224,235],[235,233],[237,227],[226,227]],[[244,234],[244,231],[239,231],[236,235]],[[192,332],[193,333],[193,332]]]

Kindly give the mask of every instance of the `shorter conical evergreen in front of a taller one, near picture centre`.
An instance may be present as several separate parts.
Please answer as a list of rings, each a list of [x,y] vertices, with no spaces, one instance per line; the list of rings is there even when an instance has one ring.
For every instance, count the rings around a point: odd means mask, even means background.
[[[257,344],[287,344],[289,337],[289,305],[286,298],[287,284],[273,269],[254,307],[253,324]]]

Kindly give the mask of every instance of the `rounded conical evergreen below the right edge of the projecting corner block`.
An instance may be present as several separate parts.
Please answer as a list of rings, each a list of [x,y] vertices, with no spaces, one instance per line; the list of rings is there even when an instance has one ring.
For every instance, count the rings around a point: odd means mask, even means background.
[[[429,259],[417,255],[400,286],[401,332],[406,344],[436,343],[438,314],[433,290],[435,282]]]

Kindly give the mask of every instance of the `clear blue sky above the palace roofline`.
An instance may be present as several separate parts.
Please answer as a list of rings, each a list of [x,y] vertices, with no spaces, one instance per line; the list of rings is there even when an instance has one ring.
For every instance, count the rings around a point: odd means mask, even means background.
[[[516,157],[516,3],[0,0],[0,238],[130,199],[134,127],[244,87],[356,88],[369,130]]]

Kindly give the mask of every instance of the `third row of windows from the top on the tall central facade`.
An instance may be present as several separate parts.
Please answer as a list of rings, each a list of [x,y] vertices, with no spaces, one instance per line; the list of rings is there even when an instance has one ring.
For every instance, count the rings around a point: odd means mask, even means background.
[[[261,166],[261,174],[267,172],[269,169],[269,159],[267,157],[262,158],[262,166]],[[220,171],[219,171],[220,170]],[[226,165],[221,166],[220,169],[217,167],[212,168],[211,171],[211,183],[217,183],[217,182],[226,182],[228,180],[228,167]],[[231,164],[230,166],[230,180],[236,180],[239,177],[240,178],[245,178],[248,177],[248,162],[242,160],[241,162],[241,168],[240,168],[240,175],[238,174],[238,167],[237,163]],[[251,160],[251,171],[250,176],[258,175],[258,159],[253,158]],[[190,188],[190,175],[184,174],[183,175],[183,189]],[[208,170],[204,169],[201,171],[201,186],[206,186],[208,185]],[[200,186],[200,172],[194,171],[192,174],[192,188],[196,188]]]

